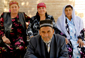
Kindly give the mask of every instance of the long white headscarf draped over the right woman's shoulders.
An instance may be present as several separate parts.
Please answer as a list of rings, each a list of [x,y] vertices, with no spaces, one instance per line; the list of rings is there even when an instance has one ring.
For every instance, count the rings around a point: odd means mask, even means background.
[[[67,6],[67,5],[66,5]],[[66,7],[65,6],[65,7]],[[71,5],[72,6],[72,5]],[[63,12],[62,15],[58,18],[56,25],[57,28],[67,36],[67,39],[70,39],[70,35],[68,34],[66,27],[65,27],[65,7],[63,8]],[[73,7],[73,6],[72,6]],[[76,35],[77,37],[79,36],[81,30],[83,29],[83,21],[80,17],[75,15],[75,10],[73,8],[72,11],[72,19],[75,25],[75,29],[76,29]]]

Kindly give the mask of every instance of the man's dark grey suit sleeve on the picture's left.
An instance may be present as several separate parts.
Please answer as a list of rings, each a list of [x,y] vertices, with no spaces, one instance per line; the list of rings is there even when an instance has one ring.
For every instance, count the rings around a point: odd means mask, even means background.
[[[31,38],[29,45],[27,46],[24,58],[37,58],[34,53],[35,46],[36,46],[35,38]]]

